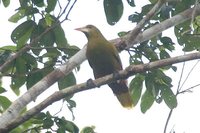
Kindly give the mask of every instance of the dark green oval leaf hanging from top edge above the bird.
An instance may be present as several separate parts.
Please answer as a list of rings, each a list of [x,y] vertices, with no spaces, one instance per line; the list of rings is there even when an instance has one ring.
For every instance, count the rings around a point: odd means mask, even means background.
[[[116,24],[123,14],[122,0],[104,0],[103,5],[108,24]]]

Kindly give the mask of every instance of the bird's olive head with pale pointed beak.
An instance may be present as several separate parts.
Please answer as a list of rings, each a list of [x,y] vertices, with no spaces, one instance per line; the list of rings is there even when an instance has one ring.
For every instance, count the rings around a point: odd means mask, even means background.
[[[76,28],[75,30],[83,32],[86,35],[86,37],[88,38],[88,40],[102,36],[99,29],[97,29],[97,27],[95,27],[93,25],[86,25],[85,27]]]

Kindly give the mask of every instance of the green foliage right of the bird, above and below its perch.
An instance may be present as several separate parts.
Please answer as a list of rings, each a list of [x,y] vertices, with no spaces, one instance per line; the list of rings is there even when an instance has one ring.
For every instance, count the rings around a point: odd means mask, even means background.
[[[163,5],[161,10],[149,21],[143,30],[148,29],[149,27],[162,22],[165,19],[171,17],[170,13],[173,15],[180,13],[181,11],[188,9],[194,5],[195,1],[182,1],[181,3],[177,2],[168,2]],[[149,12],[153,7],[155,1],[151,1],[150,4],[147,4],[142,7],[140,13],[135,12],[129,16],[129,21],[133,23],[138,23],[144,16]],[[192,23],[194,30],[191,29],[191,21],[181,23],[174,27],[174,33],[178,40],[178,44],[183,47],[183,51],[193,51],[199,49],[198,43],[198,17],[195,18]],[[145,62],[152,62],[155,60],[170,58],[170,53],[175,50],[174,43],[170,37],[163,36],[159,34],[158,36],[151,38],[150,40],[141,43],[138,46],[134,46],[129,50],[130,54],[130,64],[141,64]],[[168,77],[164,72],[166,70],[172,69],[176,71],[174,66],[165,66],[163,68],[145,72],[143,74],[137,74],[130,83],[130,89],[132,93],[132,98],[134,104],[136,105],[141,99],[140,107],[141,111],[145,113],[154,103],[161,103],[164,101],[166,105],[173,109],[177,106],[176,95],[171,90],[172,79]],[[136,83],[137,82],[137,83]],[[145,89],[143,86],[145,83],[146,90],[142,93],[142,89]]]

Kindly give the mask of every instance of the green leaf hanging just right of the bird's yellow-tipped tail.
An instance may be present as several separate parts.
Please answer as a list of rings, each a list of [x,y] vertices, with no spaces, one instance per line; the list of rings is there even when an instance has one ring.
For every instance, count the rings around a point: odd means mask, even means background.
[[[142,75],[136,75],[134,79],[132,79],[131,83],[130,83],[130,92],[131,92],[131,96],[132,96],[132,101],[133,101],[133,105],[137,105],[140,97],[141,97],[141,93],[142,93],[142,88],[143,88],[143,81],[144,81],[144,77]]]

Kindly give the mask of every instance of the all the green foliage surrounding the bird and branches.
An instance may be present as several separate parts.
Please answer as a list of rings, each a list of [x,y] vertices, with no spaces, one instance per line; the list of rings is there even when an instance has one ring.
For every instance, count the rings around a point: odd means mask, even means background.
[[[4,7],[8,7],[10,0],[1,0]],[[9,76],[11,78],[10,87],[16,95],[20,95],[20,89],[25,86],[27,90],[34,84],[52,72],[57,66],[62,65],[70,57],[79,51],[77,46],[68,43],[65,32],[62,28],[62,22],[67,20],[68,13],[66,9],[71,1],[67,1],[66,7],[62,8],[59,0],[20,0],[20,7],[16,9],[9,21],[17,23],[18,26],[11,34],[11,40],[15,45],[7,45],[0,48],[0,64],[5,63],[13,53],[29,45],[29,50],[9,64],[1,73],[1,78]],[[134,0],[126,1],[130,7],[134,8]],[[128,16],[131,23],[138,23],[142,20],[149,10],[155,5],[155,0],[141,8],[141,12],[135,12]],[[104,0],[103,7],[106,20],[109,25],[115,25],[123,15],[124,3],[122,0]],[[126,4],[127,4],[126,3]],[[181,2],[170,1],[164,4],[159,12],[144,26],[142,31],[156,25],[163,20],[171,18],[185,9],[192,7],[195,0],[182,0]],[[72,4],[73,5],[73,4]],[[60,10],[57,14],[55,10]],[[62,20],[62,19],[63,20]],[[187,21],[174,27],[174,34],[178,44],[182,46],[183,51],[191,52],[199,50],[198,34],[199,17],[194,21]],[[129,32],[120,32],[122,37]],[[175,50],[174,42],[168,36],[160,33],[158,36],[148,41],[142,42],[137,46],[131,47],[130,64],[143,64],[165,58],[170,58],[170,54]],[[141,111],[145,113],[151,106],[162,101],[170,108],[177,107],[177,97],[172,88],[172,79],[165,74],[169,69],[176,71],[174,66],[165,66],[156,70],[136,74],[130,83],[130,92],[134,105],[140,101]],[[79,68],[77,69],[79,70]],[[58,81],[58,88],[69,87],[76,84],[76,77],[71,72],[63,79]],[[6,92],[6,88],[0,87],[0,94]],[[67,106],[73,115],[73,108],[76,107],[75,101],[68,96],[64,100],[68,102]],[[12,102],[9,97],[0,95],[0,113],[4,112]],[[23,128],[22,128],[23,127]],[[20,128],[14,131],[21,132],[22,129],[30,131],[52,132],[55,128],[58,133],[79,132],[79,128],[64,117],[52,116],[50,112],[40,113],[36,117],[24,123]],[[13,132],[14,132],[13,131]],[[94,127],[85,127],[82,133],[93,133]]]

